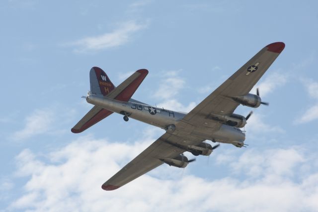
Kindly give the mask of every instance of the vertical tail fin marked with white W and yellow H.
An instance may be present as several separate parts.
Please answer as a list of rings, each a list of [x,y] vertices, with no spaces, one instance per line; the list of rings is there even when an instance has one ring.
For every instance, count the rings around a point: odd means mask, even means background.
[[[115,86],[106,73],[98,67],[93,67],[89,72],[90,92],[96,95],[107,96]]]

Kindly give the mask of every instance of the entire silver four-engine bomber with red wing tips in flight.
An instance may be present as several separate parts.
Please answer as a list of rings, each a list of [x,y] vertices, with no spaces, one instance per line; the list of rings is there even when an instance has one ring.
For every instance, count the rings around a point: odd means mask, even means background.
[[[283,42],[265,46],[189,113],[158,108],[131,99],[147,76],[146,69],[136,71],[115,87],[103,70],[93,67],[89,72],[90,91],[85,98],[94,106],[72,128],[72,132],[82,132],[113,112],[122,114],[125,121],[134,118],[166,131],[107,180],[102,189],[118,189],[163,163],[184,168],[195,159],[189,160],[183,152],[188,151],[195,156],[210,155],[219,146],[212,147],[205,140],[244,146],[245,134],[240,128],[245,126],[252,112],[246,117],[233,112],[239,105],[268,105],[261,101],[258,89],[256,95],[249,92],[284,47]]]

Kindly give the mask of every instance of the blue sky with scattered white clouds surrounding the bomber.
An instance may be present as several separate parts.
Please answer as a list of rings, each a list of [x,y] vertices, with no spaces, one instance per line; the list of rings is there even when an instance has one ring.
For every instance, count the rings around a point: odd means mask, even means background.
[[[0,210],[318,211],[318,3],[0,1]],[[73,134],[90,109],[89,70],[115,85],[149,75],[133,98],[189,111],[265,45],[284,51],[255,86],[248,148],[222,144],[186,169],[163,165],[100,186],[163,130],[113,114]],[[252,90],[255,92],[255,89]]]

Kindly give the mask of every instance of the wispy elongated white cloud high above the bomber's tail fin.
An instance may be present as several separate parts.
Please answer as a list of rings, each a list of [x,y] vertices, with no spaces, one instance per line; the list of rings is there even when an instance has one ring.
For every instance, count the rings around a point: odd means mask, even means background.
[[[132,39],[132,36],[137,31],[144,29],[148,23],[137,23],[136,21],[127,21],[112,32],[107,32],[98,36],[91,36],[71,42],[67,45],[75,46],[76,52],[90,52],[109,49],[116,46],[126,44]]]

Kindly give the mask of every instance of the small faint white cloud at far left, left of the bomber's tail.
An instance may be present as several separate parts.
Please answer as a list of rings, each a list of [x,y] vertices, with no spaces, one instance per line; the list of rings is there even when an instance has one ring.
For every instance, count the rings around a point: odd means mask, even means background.
[[[47,132],[54,120],[54,115],[50,109],[37,109],[25,118],[23,129],[16,131],[12,138],[14,140],[27,139],[33,135]]]

